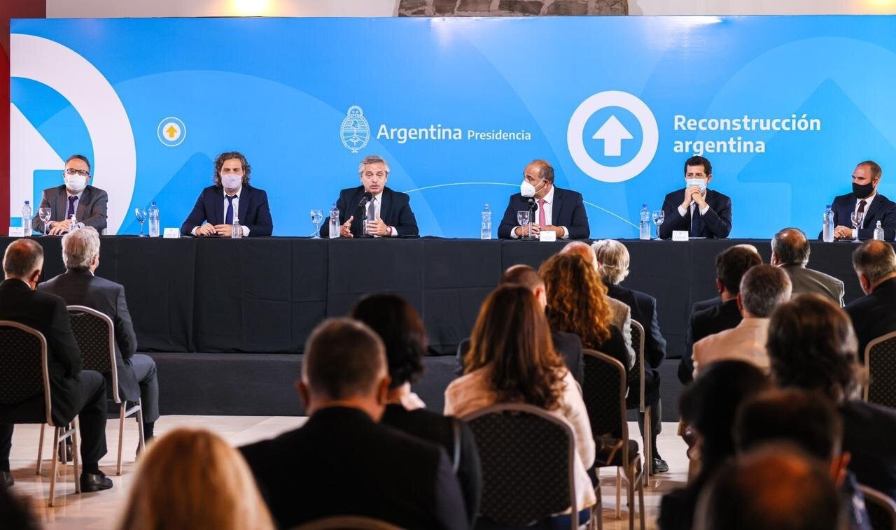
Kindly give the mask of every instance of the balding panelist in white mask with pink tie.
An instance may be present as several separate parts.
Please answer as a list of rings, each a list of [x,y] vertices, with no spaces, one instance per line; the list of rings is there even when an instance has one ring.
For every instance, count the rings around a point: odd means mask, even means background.
[[[522,172],[520,192],[510,196],[504,218],[498,226],[498,237],[519,239],[552,231],[557,239],[585,239],[591,229],[582,193],[554,185],[554,167],[545,160],[533,160]],[[530,211],[529,224],[521,227],[518,211]]]

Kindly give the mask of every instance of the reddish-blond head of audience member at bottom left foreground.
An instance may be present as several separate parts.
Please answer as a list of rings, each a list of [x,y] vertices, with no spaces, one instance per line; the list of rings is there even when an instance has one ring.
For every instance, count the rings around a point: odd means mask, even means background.
[[[209,431],[180,428],[162,436],[132,484],[119,530],[274,527],[246,460]]]

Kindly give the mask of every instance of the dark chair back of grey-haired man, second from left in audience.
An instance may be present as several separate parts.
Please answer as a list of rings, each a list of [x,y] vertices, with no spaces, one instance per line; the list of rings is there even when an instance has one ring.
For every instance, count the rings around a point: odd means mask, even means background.
[[[81,348],[84,370],[93,370],[112,376],[112,395],[118,398],[118,371],[115,359],[115,324],[106,313],[86,305],[69,305],[69,320],[72,321],[74,338]]]

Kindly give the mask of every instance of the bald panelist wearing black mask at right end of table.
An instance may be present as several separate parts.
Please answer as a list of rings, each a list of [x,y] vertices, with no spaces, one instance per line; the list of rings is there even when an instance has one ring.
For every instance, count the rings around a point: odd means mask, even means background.
[[[852,172],[852,193],[834,198],[831,211],[834,214],[834,237],[837,239],[871,239],[877,221],[883,227],[883,237],[892,241],[896,237],[896,203],[877,192],[883,171],[872,160],[866,160]],[[858,230],[852,227],[850,215],[864,213]],[[821,239],[819,234],[818,238]]]

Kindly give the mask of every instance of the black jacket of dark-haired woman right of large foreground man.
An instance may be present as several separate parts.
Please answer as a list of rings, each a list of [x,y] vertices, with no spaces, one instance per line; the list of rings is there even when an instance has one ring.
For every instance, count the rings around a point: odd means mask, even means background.
[[[450,416],[444,416],[425,408],[407,410],[401,405],[386,406],[380,423],[389,425],[401,432],[407,432],[421,440],[437,443],[445,449],[448,459],[454,463],[455,450],[459,452],[457,480],[461,484],[464,505],[472,527],[479,511],[479,498],[482,495],[482,468],[479,464],[479,450],[476,439],[467,423]],[[454,443],[454,424],[459,426],[458,447]]]

